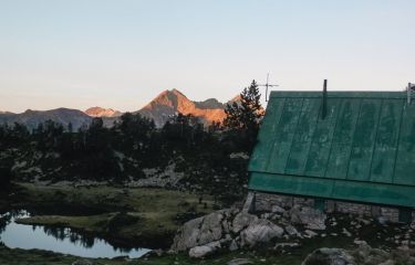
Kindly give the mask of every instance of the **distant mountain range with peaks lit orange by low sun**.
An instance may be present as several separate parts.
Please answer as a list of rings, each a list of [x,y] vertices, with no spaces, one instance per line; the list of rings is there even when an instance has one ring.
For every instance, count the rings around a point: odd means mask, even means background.
[[[239,97],[235,97],[228,103],[238,102]],[[226,104],[218,102],[216,98],[209,98],[204,102],[194,102],[188,99],[181,92],[177,89],[164,91],[142,109],[132,112],[133,114],[141,114],[144,117],[154,120],[156,127],[163,125],[174,115],[194,115],[205,124],[212,121],[222,121],[226,117]],[[106,126],[111,126],[115,120],[122,116],[123,113],[102,107],[91,107],[84,112],[70,108],[56,108],[51,110],[31,110],[14,114],[9,112],[0,112],[0,124],[20,123],[27,125],[29,128],[34,128],[40,123],[45,120],[53,120],[68,126],[72,124],[73,129],[79,129],[83,125],[89,125],[94,117],[102,117]]]

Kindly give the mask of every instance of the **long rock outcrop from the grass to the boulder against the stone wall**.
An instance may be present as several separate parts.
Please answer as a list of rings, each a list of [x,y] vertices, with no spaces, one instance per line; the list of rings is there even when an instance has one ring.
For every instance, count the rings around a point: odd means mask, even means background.
[[[305,206],[287,211],[272,208],[272,212],[260,216],[243,210],[220,210],[185,223],[172,251],[190,250],[190,256],[203,257],[220,248],[236,251],[279,239],[311,239],[319,235],[314,231],[325,229],[325,214]]]

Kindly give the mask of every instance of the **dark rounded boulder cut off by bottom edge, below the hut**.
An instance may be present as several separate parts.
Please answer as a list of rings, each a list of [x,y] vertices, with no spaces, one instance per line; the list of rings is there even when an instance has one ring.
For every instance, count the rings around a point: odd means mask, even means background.
[[[301,265],[355,265],[353,256],[341,248],[319,248],[307,256]]]

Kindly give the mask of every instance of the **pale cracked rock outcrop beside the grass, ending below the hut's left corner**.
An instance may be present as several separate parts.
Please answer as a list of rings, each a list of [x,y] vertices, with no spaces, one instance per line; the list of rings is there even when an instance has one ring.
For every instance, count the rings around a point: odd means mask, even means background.
[[[252,247],[283,234],[284,230],[269,220],[227,209],[185,223],[174,240],[172,251],[189,250],[189,256],[203,257],[224,247],[230,251],[241,246]]]

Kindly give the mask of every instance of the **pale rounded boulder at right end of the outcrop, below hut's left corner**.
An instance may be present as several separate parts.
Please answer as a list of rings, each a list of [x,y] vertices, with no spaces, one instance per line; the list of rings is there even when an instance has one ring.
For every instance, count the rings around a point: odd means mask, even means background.
[[[277,224],[258,219],[240,233],[242,246],[255,246],[258,243],[266,243],[276,237],[281,237],[284,231]]]

